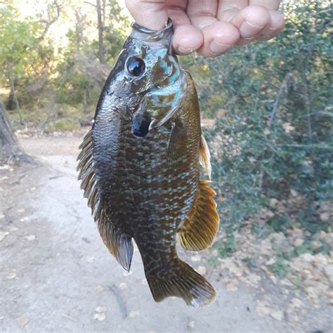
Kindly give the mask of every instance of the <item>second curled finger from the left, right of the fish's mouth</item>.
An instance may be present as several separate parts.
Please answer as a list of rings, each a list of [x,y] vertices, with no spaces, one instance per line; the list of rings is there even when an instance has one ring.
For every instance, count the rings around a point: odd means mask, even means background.
[[[234,25],[218,20],[212,25],[203,27],[202,34],[204,44],[197,53],[205,57],[216,57],[225,53],[240,39],[240,34]]]

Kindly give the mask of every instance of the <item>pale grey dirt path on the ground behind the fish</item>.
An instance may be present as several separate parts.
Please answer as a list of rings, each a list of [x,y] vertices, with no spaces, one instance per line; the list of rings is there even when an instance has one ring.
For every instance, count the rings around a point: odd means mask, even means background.
[[[216,274],[211,306],[152,301],[138,251],[126,273],[100,240],[77,181],[80,140],[21,139],[38,163],[0,170],[0,332],[328,332],[318,313],[297,325],[283,308],[276,318],[259,315],[257,290],[227,291]],[[278,287],[267,296],[283,305]]]

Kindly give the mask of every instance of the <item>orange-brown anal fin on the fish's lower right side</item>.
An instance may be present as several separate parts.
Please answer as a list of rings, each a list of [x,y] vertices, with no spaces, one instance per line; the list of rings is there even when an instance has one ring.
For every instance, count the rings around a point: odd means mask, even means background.
[[[192,204],[183,226],[178,230],[181,246],[191,251],[201,251],[213,244],[218,232],[219,218],[216,202],[212,198],[216,192],[208,186],[210,181],[200,181],[195,201]]]

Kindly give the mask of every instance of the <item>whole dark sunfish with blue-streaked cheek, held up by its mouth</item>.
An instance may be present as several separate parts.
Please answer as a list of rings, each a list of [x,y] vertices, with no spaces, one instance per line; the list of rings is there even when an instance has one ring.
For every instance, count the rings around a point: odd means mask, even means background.
[[[170,19],[158,31],[131,27],[79,146],[81,188],[125,270],[136,242],[156,302],[176,296],[204,306],[214,287],[176,251],[177,239],[190,251],[211,247],[218,231],[197,91],[172,52]]]

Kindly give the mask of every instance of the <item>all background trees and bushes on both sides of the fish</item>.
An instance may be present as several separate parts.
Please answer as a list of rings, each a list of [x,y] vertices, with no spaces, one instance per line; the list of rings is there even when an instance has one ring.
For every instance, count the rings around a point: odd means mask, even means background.
[[[259,238],[301,228],[306,242],[289,257],[331,250],[312,241],[332,228],[332,8],[285,1],[277,39],[215,59],[181,58],[195,76],[202,117],[214,119],[204,132],[222,216],[220,256],[235,251],[235,232],[248,226]],[[0,2],[0,22],[0,97],[15,129],[89,124],[129,29],[117,2],[41,1],[31,16],[16,1]],[[278,275],[283,262],[271,267]]]

